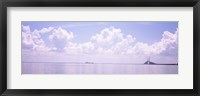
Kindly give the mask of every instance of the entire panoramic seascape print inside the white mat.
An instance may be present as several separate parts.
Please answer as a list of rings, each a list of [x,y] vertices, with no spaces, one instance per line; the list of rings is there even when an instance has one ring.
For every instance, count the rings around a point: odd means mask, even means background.
[[[22,21],[22,74],[178,74],[177,21]]]

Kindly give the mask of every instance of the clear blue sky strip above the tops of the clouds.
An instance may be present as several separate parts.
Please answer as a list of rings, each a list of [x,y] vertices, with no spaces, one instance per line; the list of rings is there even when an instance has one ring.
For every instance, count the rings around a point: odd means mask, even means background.
[[[78,39],[75,42],[82,43],[90,39],[92,35],[104,28],[114,26],[123,30],[124,34],[132,34],[138,41],[153,43],[160,40],[164,31],[175,32],[178,22],[22,22],[24,26],[30,26],[31,31],[48,27],[62,27],[72,31]],[[81,38],[80,38],[81,37]]]

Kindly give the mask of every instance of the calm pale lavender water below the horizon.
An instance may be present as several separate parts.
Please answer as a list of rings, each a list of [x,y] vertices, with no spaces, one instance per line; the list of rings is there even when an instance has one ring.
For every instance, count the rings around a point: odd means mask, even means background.
[[[22,63],[22,74],[178,74],[178,65]]]

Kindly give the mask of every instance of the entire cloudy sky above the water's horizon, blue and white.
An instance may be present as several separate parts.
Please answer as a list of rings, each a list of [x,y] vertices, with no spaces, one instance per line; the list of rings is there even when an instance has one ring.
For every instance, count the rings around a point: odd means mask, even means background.
[[[22,62],[178,62],[178,22],[21,24]]]

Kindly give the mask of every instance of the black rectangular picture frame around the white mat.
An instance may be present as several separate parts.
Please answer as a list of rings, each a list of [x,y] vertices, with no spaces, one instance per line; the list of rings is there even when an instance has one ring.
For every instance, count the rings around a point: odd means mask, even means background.
[[[7,7],[193,7],[193,89],[7,89]],[[200,0],[1,0],[1,96],[199,96]]]

